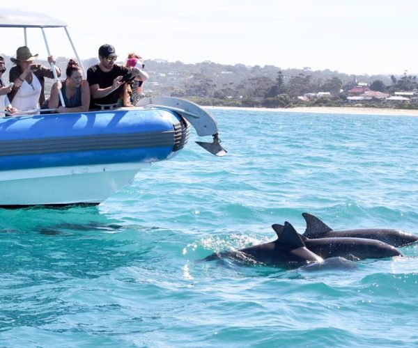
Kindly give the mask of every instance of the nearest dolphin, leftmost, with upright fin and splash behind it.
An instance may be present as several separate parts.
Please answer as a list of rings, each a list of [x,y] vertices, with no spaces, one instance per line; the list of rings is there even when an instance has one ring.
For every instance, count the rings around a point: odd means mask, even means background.
[[[284,223],[280,235],[277,235],[277,239],[273,242],[249,246],[239,251],[213,253],[204,260],[212,261],[222,258],[229,258],[245,263],[261,262],[276,267],[285,267],[288,265],[300,266],[311,262],[323,261],[322,258],[307,249],[300,235],[287,221]]]

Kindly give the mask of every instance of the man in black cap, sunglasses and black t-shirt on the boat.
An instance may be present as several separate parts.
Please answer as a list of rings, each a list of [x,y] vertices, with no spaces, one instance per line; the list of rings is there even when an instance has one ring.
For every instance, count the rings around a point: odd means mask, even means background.
[[[98,105],[116,104],[123,92],[122,86],[125,82],[121,81],[126,74],[131,74],[133,78],[139,74],[138,68],[127,68],[123,65],[115,64],[118,58],[115,47],[112,45],[102,45],[99,48],[100,63],[93,65],[87,70],[87,81],[90,86],[91,109],[98,109]]]

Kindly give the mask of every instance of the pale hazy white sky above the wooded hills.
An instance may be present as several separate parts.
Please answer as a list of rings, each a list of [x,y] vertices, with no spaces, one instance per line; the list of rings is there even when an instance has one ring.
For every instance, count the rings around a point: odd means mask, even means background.
[[[42,12],[66,22],[83,59],[98,56],[98,47],[109,43],[121,61],[137,52],[145,60],[183,63],[418,74],[416,0],[5,2],[0,8]],[[15,56],[24,45],[22,29],[0,30],[0,54]],[[45,32],[54,56],[74,56],[63,29]],[[28,31],[28,40],[33,54],[47,56],[40,29]]]

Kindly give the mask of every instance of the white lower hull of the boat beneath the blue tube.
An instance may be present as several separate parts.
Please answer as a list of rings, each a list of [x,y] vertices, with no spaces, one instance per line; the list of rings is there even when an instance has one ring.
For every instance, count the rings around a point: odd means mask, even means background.
[[[0,206],[99,204],[132,184],[150,163],[68,166],[5,171],[0,179]]]

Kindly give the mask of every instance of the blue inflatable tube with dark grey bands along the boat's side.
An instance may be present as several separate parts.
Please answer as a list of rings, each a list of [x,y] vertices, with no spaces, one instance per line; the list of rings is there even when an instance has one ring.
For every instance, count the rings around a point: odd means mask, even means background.
[[[3,118],[0,171],[162,161],[173,152],[179,120],[146,109]]]

